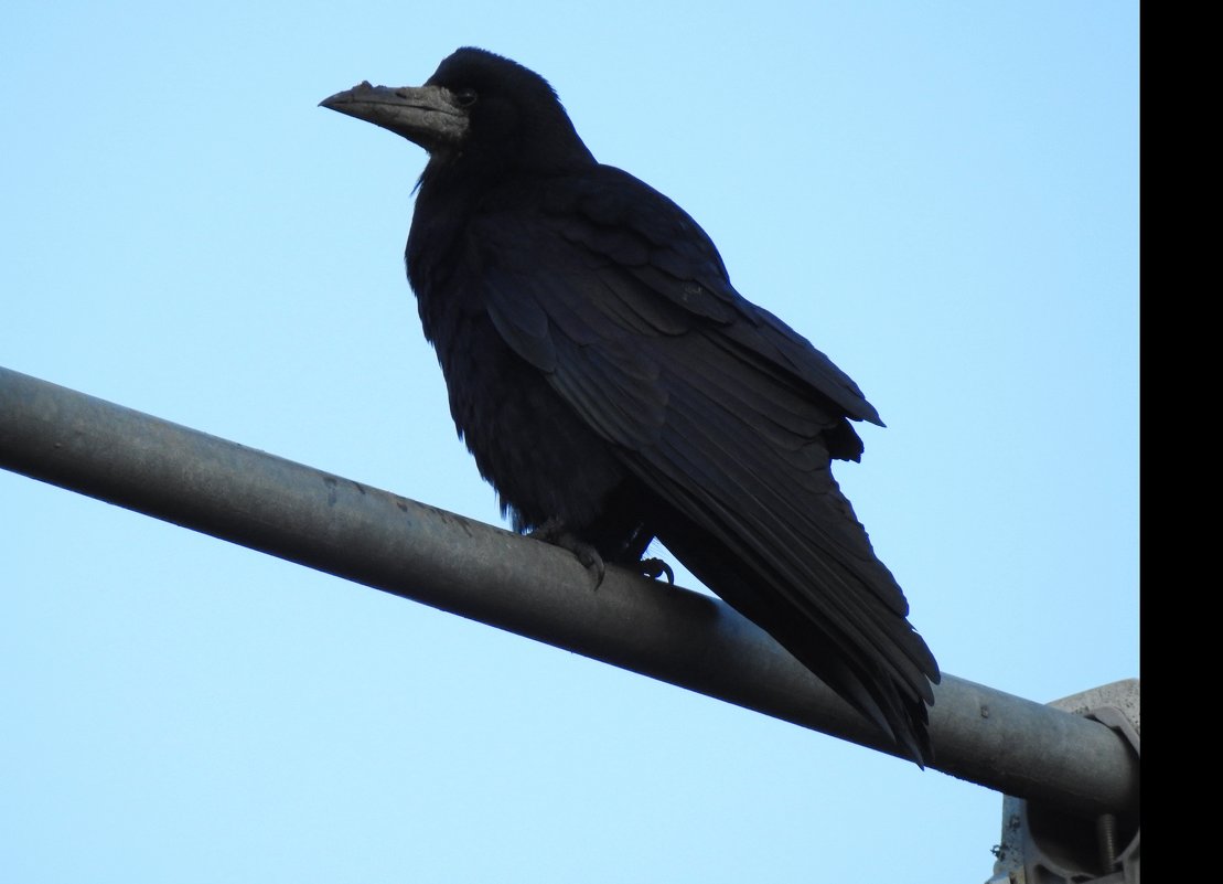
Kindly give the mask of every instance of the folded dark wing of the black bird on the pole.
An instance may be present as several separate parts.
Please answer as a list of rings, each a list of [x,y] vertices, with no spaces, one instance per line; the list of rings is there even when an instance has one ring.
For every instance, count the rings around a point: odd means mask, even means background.
[[[473,223],[489,316],[632,473],[742,567],[734,586],[718,585],[717,568],[698,577],[783,643],[821,635],[806,657],[788,646],[904,740],[938,669],[829,470],[832,455],[861,453],[845,418],[878,415],[827,356],[731,288],[679,207],[603,169]],[[829,659],[848,670],[828,672]]]

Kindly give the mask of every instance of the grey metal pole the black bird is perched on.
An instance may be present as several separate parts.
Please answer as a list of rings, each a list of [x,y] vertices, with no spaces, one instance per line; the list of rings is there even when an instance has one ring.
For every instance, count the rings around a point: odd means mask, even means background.
[[[883,752],[717,599],[608,569],[386,491],[0,369],[0,466]],[[944,676],[931,766],[1095,817],[1135,813],[1139,763],[1102,724]]]

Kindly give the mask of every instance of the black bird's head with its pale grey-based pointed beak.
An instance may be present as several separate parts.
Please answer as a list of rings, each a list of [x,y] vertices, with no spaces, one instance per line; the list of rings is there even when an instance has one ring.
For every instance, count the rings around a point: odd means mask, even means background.
[[[430,165],[520,171],[594,162],[548,82],[483,49],[457,50],[424,86],[364,82],[323,99],[322,107],[419,144]]]

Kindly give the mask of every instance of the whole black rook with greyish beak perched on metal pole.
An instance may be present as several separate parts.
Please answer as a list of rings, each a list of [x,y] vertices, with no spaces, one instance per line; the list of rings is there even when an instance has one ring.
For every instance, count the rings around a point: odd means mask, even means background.
[[[709,589],[929,759],[934,657],[829,465],[879,415],[730,284],[679,206],[598,163],[556,93],[481,49],[323,107],[429,153],[407,273],[455,426],[520,531]]]

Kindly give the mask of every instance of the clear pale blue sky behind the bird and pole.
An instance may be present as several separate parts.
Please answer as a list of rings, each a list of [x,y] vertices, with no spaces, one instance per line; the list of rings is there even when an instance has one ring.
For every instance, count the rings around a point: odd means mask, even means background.
[[[487,522],[404,278],[473,44],[888,422],[944,671],[1139,675],[1137,4],[9,2],[0,365]],[[2,420],[0,415],[0,420]],[[0,880],[978,882],[1000,796],[0,473]]]

